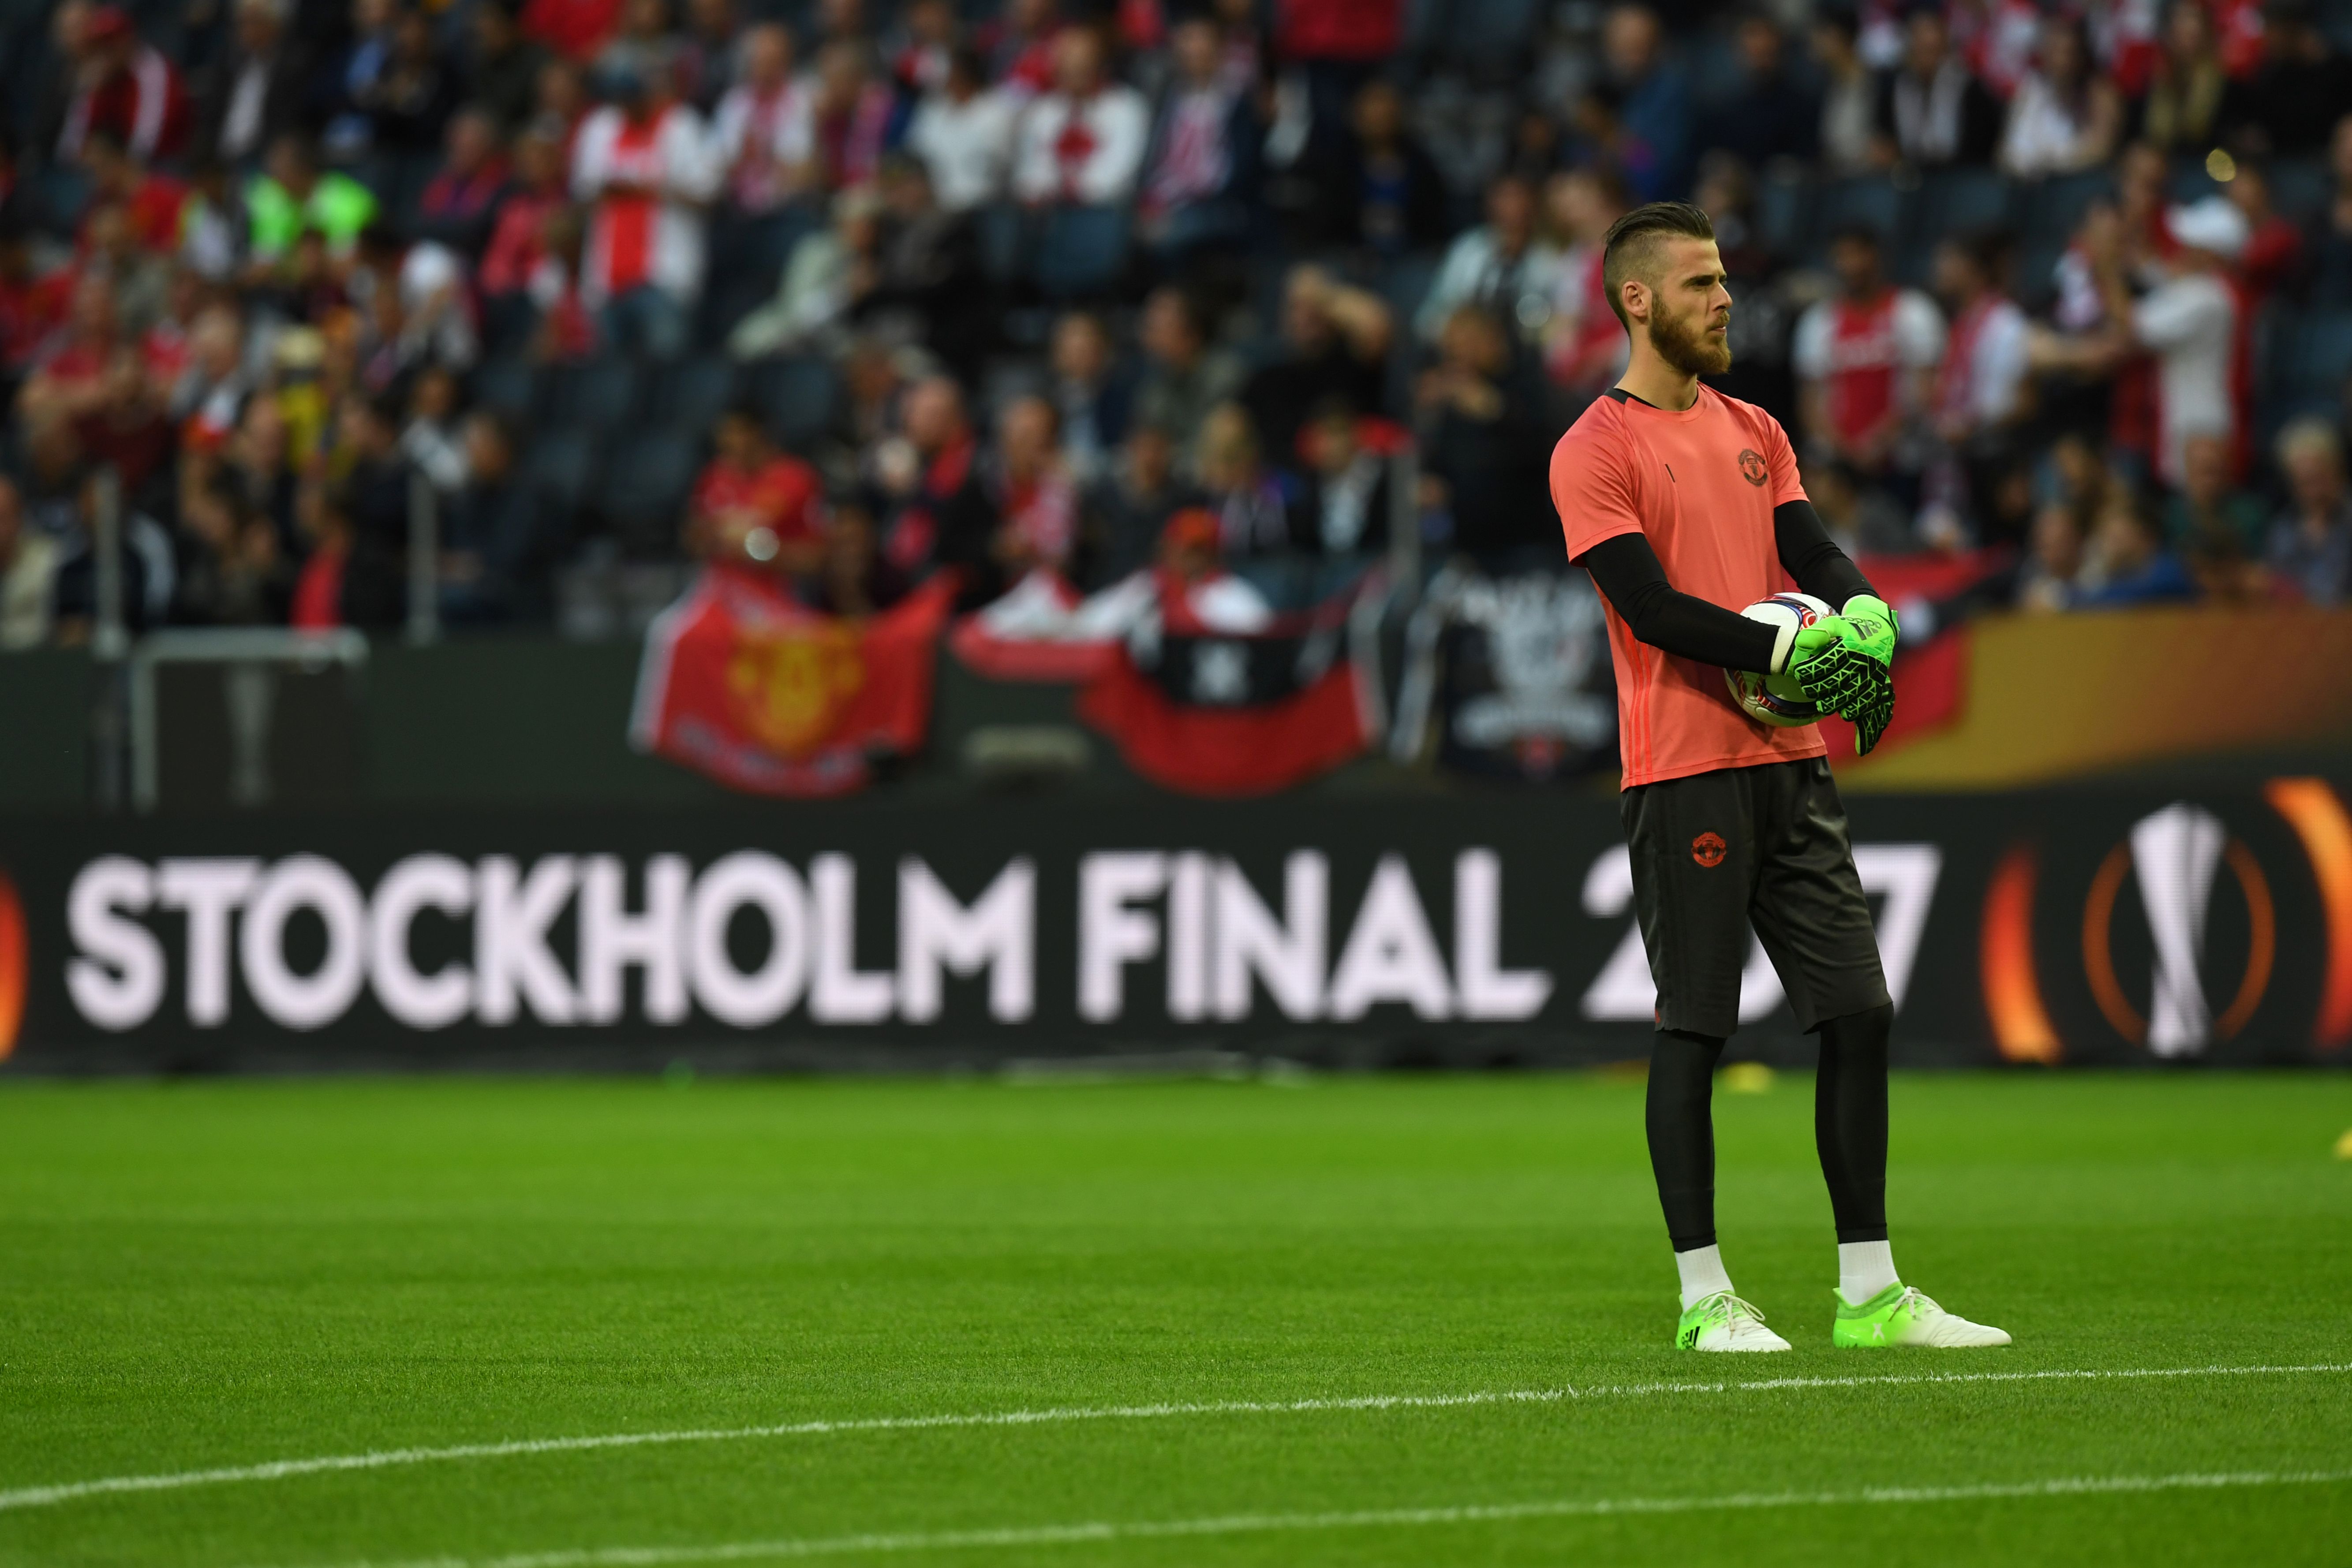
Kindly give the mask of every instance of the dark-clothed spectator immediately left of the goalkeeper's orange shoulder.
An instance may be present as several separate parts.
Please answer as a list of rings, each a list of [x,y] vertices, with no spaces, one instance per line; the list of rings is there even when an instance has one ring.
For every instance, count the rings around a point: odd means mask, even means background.
[[[1550,421],[1515,386],[1510,331],[1491,313],[1461,306],[1437,355],[1414,393],[1421,470],[1435,484],[1430,501],[1454,520],[1454,548],[1501,564],[1557,531]]]

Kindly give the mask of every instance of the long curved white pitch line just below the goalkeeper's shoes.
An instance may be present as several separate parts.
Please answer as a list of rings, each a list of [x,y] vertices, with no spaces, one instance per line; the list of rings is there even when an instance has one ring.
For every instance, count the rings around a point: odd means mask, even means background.
[[[1863,1378],[1752,1378],[1726,1382],[1616,1382],[1557,1389],[1505,1389],[1479,1394],[1367,1394],[1359,1399],[1214,1399],[1150,1406],[1061,1406],[1044,1410],[993,1410],[964,1415],[873,1415],[854,1420],[802,1420],[774,1427],[689,1427],[682,1432],[609,1432],[595,1436],[527,1436],[503,1443],[452,1443],[447,1448],[379,1448],[310,1460],[270,1460],[221,1469],[174,1469],[153,1476],[103,1476],[0,1490],[0,1512],[38,1509],[113,1493],[167,1493],[186,1486],[235,1481],[287,1481],[343,1469],[390,1469],[445,1460],[506,1460],[534,1453],[583,1453],[593,1448],[652,1448],[666,1443],[734,1443],[776,1436],[837,1436],[856,1432],[931,1432],[941,1427],[1044,1427],[1082,1420],[1167,1420],[1176,1415],[1315,1415],[1324,1410],[1454,1410],[1463,1406],[1559,1403],[1585,1399],[1658,1399],[1675,1394],[1771,1394],[1778,1389],[1860,1389],[1973,1382],[2100,1382],[2143,1378],[2312,1378],[2352,1373],[2352,1361],[2312,1366],[2150,1366],[2150,1368],[2053,1368],[2032,1373],[1884,1373]]]

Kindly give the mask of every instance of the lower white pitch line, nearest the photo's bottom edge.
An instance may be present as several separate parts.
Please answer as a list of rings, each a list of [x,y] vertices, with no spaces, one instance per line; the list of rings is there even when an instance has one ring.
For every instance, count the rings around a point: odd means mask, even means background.
[[[804,1540],[741,1540],[713,1547],[593,1547],[524,1552],[520,1556],[433,1556],[409,1563],[346,1563],[343,1568],[659,1568],[663,1563],[741,1563],[795,1556],[854,1556],[882,1552],[950,1552],[969,1547],[1063,1547],[1183,1535],[1261,1535],[1270,1530],[1369,1530],[1430,1523],[1510,1523],[1517,1519],[1592,1519],[1606,1514],[1712,1514],[1726,1509],[1804,1509],[1879,1502],[1994,1502],[2002,1497],[2098,1497],[2112,1493],[2216,1490],[2225,1486],[2331,1486],[2352,1469],[2223,1472],[2178,1476],[2065,1476],[2056,1481],[1987,1481],[1983,1486],[1872,1486],[1851,1493],[1731,1493],[1722,1497],[1576,1497],[1562,1502],[1489,1502],[1435,1509],[1364,1509],[1357,1514],[1228,1514],[1221,1519],[1157,1519],[1138,1523],[1049,1523],[1007,1530],[936,1530],[924,1535],[818,1535]]]

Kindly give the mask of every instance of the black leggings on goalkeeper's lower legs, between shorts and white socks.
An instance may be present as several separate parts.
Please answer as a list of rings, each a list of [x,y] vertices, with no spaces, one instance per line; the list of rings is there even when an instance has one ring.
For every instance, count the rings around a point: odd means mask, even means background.
[[[1828,1018],[1813,1079],[1813,1147],[1839,1241],[1886,1239],[1886,1034],[1893,1006]],[[1649,1168],[1675,1251],[1715,1246],[1715,1063],[1724,1041],[1661,1030],[1649,1048]]]

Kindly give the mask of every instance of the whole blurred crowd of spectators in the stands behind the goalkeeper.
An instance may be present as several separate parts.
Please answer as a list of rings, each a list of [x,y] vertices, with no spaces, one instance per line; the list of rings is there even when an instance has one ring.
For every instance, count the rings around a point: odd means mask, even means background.
[[[849,616],[1204,550],[1298,604],[1397,529],[1557,564],[1550,447],[1625,357],[1599,240],[1668,195],[1717,223],[1724,390],[1849,548],[1985,552],[2032,609],[2338,602],[2347,33],[59,0],[0,38],[0,646],[89,635],[106,496],[132,628],[397,625],[428,517],[456,628],[691,559]]]

